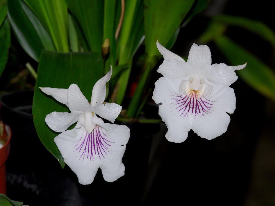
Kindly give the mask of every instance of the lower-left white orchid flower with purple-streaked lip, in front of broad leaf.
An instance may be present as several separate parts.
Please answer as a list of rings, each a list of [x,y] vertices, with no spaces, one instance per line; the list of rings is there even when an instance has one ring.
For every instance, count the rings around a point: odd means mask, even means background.
[[[52,112],[46,116],[45,122],[55,132],[61,132],[55,137],[55,144],[64,162],[75,172],[79,183],[83,185],[93,182],[98,168],[101,168],[107,182],[113,182],[124,175],[125,167],[121,159],[130,130],[124,125],[104,123],[97,116],[113,123],[121,111],[118,104],[103,104],[106,82],[110,80],[111,75],[112,67],[95,83],[91,103],[76,84],[71,84],[69,89],[40,88],[71,111]],[[75,122],[77,124],[73,129],[66,130]]]

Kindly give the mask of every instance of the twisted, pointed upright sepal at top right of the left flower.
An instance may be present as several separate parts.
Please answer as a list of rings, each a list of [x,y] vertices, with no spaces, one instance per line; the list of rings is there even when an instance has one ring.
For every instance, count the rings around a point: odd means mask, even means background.
[[[97,107],[101,105],[106,98],[106,83],[110,80],[112,76],[112,66],[110,71],[101,79],[99,79],[93,86],[91,106]]]

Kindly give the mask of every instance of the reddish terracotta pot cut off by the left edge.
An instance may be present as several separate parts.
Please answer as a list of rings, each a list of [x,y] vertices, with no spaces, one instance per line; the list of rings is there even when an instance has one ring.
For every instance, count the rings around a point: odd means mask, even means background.
[[[6,195],[6,160],[10,150],[11,129],[0,121],[0,140],[5,142],[0,148],[0,193]]]

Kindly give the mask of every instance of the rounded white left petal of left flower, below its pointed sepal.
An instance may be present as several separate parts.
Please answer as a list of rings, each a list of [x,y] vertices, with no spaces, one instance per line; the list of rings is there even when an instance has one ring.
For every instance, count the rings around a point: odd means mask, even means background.
[[[82,112],[52,112],[45,117],[46,124],[55,132],[64,132],[68,127],[78,121]]]

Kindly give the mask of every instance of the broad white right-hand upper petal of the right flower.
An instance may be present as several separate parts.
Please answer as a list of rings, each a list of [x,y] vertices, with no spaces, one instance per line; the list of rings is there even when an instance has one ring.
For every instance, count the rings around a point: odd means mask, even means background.
[[[226,64],[212,64],[199,72],[200,77],[206,77],[208,81],[215,84],[230,86],[238,77],[234,72],[233,66]]]

